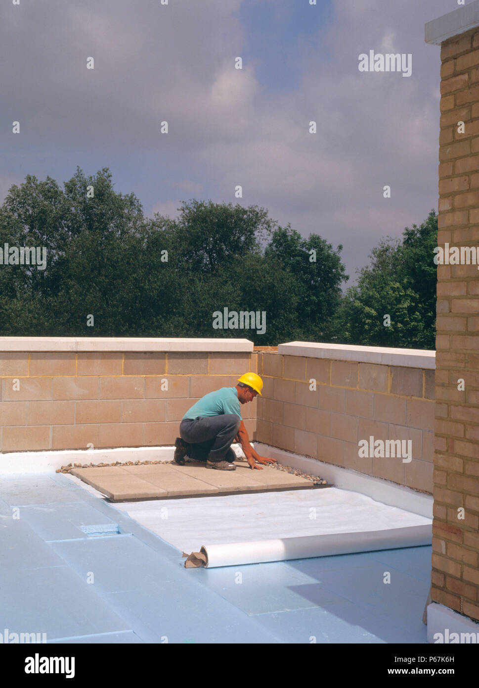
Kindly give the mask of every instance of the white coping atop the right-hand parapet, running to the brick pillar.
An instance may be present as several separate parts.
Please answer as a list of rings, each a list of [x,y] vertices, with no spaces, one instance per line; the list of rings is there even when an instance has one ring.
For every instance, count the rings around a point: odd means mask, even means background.
[[[380,346],[353,346],[350,344],[316,344],[289,342],[278,346],[278,354],[332,358],[335,361],[380,363],[407,368],[436,368],[436,352],[422,349],[388,349]]]

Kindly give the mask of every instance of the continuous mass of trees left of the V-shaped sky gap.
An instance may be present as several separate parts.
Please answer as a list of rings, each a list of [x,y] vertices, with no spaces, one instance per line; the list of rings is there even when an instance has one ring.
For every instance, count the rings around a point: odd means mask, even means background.
[[[47,269],[0,266],[0,334],[239,336],[259,345],[331,336],[347,279],[341,246],[304,239],[257,206],[190,200],[179,210],[175,220],[144,217],[133,193],[114,191],[107,168],[88,178],[77,168],[64,189],[32,175],[12,186],[0,246],[44,246]],[[214,330],[223,308],[265,311],[265,334]]]

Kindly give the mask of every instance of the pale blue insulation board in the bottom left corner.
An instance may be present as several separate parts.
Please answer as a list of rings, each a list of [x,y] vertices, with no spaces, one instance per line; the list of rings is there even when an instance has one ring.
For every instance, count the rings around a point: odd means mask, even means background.
[[[131,630],[69,566],[2,574],[0,626],[49,638]]]

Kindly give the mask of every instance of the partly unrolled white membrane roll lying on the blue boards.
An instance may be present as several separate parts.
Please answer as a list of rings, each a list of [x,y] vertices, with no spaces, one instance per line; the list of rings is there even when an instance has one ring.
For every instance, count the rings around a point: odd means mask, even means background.
[[[276,540],[235,542],[232,544],[203,545],[201,552],[207,557],[206,566],[238,566],[266,561],[330,557],[354,552],[392,550],[401,547],[419,547],[432,543],[432,524],[407,526],[386,530],[359,531],[357,533],[329,533],[305,535]]]

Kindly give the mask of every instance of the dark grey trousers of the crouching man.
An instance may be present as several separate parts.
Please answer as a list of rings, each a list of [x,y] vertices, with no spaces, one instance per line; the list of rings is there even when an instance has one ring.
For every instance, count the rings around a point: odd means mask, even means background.
[[[241,419],[236,413],[223,413],[221,416],[197,416],[183,419],[179,434],[186,444],[192,444],[190,459],[205,461],[227,461],[232,463],[236,455],[231,448],[238,433]]]

